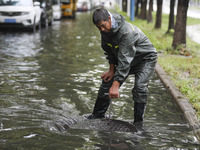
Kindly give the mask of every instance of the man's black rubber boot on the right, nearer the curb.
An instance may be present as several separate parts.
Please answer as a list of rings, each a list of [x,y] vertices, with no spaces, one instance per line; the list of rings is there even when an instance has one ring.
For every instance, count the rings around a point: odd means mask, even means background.
[[[144,112],[146,108],[146,103],[137,103],[134,104],[134,123],[142,123]]]

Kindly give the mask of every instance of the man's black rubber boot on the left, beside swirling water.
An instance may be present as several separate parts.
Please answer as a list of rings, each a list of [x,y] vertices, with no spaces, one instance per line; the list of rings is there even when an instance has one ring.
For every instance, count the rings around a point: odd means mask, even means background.
[[[88,116],[88,119],[104,118],[109,104],[110,99],[108,98],[108,96],[105,96],[103,98],[97,97],[93,113]]]

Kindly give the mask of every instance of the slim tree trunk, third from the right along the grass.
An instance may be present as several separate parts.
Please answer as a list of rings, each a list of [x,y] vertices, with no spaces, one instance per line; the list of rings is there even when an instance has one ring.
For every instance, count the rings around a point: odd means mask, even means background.
[[[155,24],[155,28],[156,29],[161,28],[161,23],[162,23],[162,3],[163,3],[163,0],[157,0],[157,12],[156,12],[156,24]]]

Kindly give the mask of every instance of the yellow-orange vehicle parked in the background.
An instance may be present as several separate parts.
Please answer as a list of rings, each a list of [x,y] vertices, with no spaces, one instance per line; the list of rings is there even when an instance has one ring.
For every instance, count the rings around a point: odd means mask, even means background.
[[[61,0],[60,2],[63,16],[74,18],[77,10],[77,0]]]

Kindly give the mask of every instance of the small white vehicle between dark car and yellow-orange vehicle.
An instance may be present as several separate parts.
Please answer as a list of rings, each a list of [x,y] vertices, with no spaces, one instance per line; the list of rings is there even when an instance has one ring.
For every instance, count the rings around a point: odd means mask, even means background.
[[[52,4],[53,4],[53,18],[54,20],[60,20],[62,18],[60,0],[52,0]]]

